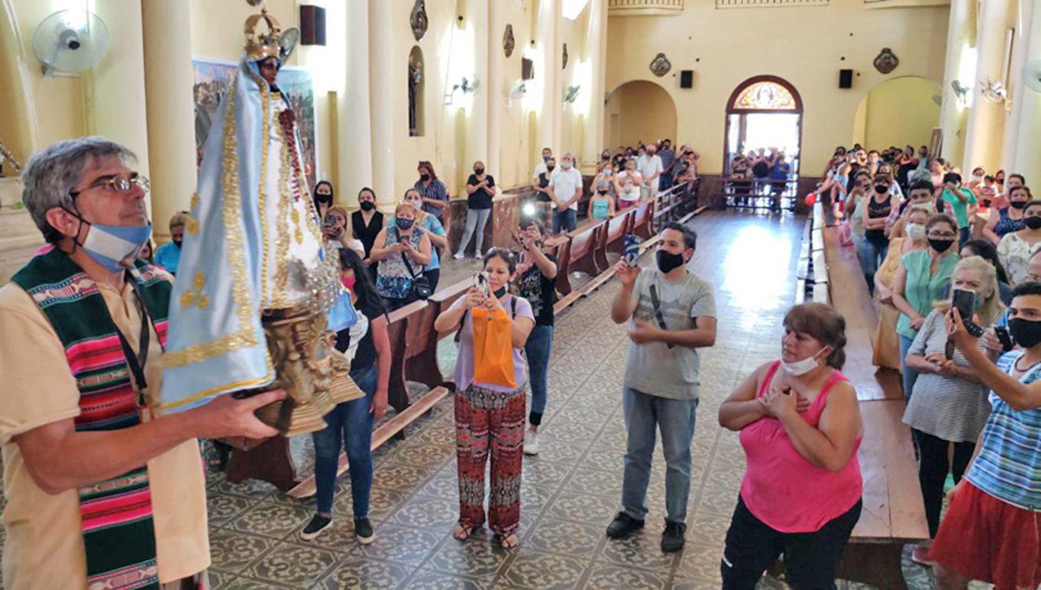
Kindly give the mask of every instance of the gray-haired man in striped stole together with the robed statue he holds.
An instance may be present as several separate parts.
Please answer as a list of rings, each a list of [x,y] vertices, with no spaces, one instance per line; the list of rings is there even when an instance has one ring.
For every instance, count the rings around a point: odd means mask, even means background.
[[[22,200],[50,247],[0,288],[7,589],[208,588],[198,439],[322,428],[327,406],[361,394],[325,347],[327,317],[340,328],[353,309],[326,284],[274,84],[277,23],[247,24],[176,285],[138,258],[149,183],[127,148],[59,142],[25,166]]]

